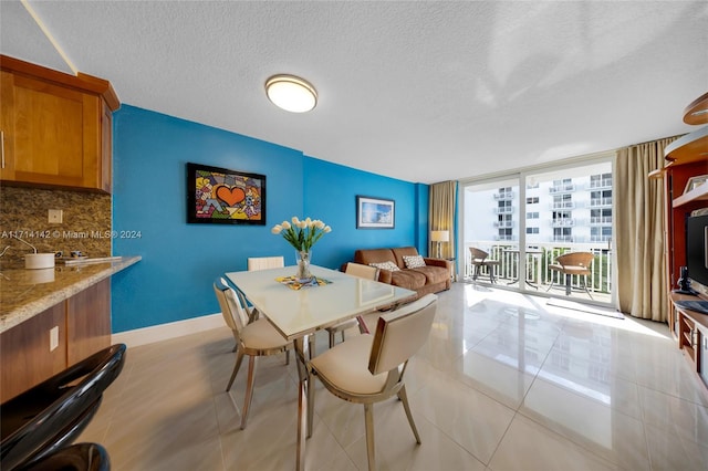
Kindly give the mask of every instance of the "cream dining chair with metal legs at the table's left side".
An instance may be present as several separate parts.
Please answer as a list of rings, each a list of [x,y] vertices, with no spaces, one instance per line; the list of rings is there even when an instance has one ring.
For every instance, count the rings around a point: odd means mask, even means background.
[[[277,355],[280,353],[289,354],[293,347],[293,343],[273,327],[273,325],[264,317],[248,322],[248,315],[241,300],[236,291],[228,286],[222,278],[214,282],[214,292],[219,301],[221,314],[229,328],[233,333],[237,344],[236,364],[231,378],[226,387],[226,391],[231,390],[231,385],[239,373],[243,356],[248,355],[248,381],[246,384],[246,398],[243,400],[243,410],[241,412],[241,430],[246,428],[248,412],[253,399],[253,377],[256,375],[256,357],[266,355]],[[288,360],[287,360],[288,363]]]

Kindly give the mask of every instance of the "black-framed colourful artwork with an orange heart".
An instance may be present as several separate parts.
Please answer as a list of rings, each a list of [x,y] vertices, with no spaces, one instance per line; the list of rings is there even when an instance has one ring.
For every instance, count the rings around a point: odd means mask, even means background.
[[[187,164],[187,222],[266,226],[266,176]]]

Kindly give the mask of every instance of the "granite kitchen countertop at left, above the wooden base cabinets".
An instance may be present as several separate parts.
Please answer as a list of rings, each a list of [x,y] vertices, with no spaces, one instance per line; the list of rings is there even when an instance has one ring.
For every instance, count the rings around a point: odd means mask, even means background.
[[[140,257],[121,257],[98,263],[58,264],[44,270],[3,268],[0,271],[0,333],[139,261]]]

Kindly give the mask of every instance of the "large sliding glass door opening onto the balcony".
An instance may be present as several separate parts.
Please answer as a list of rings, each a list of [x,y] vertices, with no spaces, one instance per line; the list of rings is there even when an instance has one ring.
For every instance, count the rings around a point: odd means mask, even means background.
[[[612,186],[611,156],[462,182],[464,279],[610,303]],[[493,263],[479,263],[470,248]],[[593,254],[590,274],[553,270],[559,255],[572,252]]]

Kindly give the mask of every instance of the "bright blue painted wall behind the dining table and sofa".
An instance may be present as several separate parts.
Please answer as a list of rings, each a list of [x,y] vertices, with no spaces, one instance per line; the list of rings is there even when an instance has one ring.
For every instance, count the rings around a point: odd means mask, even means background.
[[[339,269],[360,248],[415,245],[427,253],[427,186],[331,164],[302,151],[123,105],[114,113],[113,254],[143,260],[112,278],[113,332],[219,312],[216,276],[248,257],[294,250],[270,229],[293,216],[332,227],[313,263]],[[186,164],[267,177],[267,226],[187,223]],[[356,195],[394,199],[395,229],[357,230]]]

